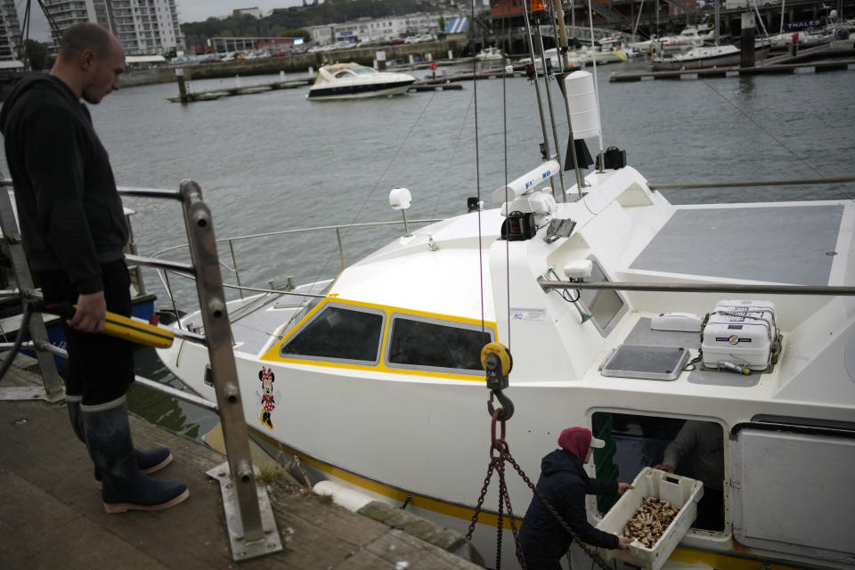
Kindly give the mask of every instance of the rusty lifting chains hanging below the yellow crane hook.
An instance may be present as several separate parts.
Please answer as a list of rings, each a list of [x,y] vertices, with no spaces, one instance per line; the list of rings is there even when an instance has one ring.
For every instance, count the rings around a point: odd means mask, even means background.
[[[493,411],[493,423],[492,423],[492,441],[490,443],[490,465],[487,467],[487,475],[484,479],[484,485],[481,487],[481,493],[478,495],[478,502],[476,504],[475,513],[472,515],[472,520],[469,523],[469,528],[466,533],[466,540],[472,540],[472,534],[475,532],[475,525],[478,521],[478,515],[481,513],[484,508],[484,500],[487,494],[487,487],[490,485],[490,480],[493,477],[493,471],[497,471],[499,473],[499,512],[498,512],[498,524],[496,525],[497,530],[497,538],[496,538],[496,570],[501,570],[501,531],[502,531],[502,520],[503,520],[503,511],[504,505],[508,505],[508,517],[510,522],[511,533],[514,535],[514,542],[517,548],[517,560],[519,561],[520,566],[522,566],[523,570],[526,570],[525,566],[525,557],[523,556],[523,550],[519,544],[519,535],[517,532],[517,521],[514,519],[514,512],[510,506],[510,495],[508,493],[508,485],[505,482],[505,462],[509,462],[511,466],[517,471],[517,474],[525,481],[525,485],[532,490],[534,495],[541,500],[543,506],[546,507],[547,510],[550,511],[552,517],[561,525],[562,528],[566,531],[567,534],[570,535],[570,539],[579,544],[582,550],[587,554],[602,570],[611,570],[606,561],[599,555],[599,552],[596,550],[590,549],[585,545],[584,542],[579,540],[579,537],[576,536],[576,533],[573,532],[573,529],[570,528],[570,525],[567,525],[564,518],[558,514],[558,511],[552,507],[550,501],[543,495],[543,493],[538,490],[538,488],[532,483],[532,480],[525,475],[525,472],[519,465],[517,461],[514,460],[513,456],[510,454],[510,449],[508,447],[508,442],[505,441],[505,422],[501,422],[501,436],[496,437],[496,420],[499,418],[501,414],[501,408]],[[494,452],[498,452],[498,455],[494,454]]]

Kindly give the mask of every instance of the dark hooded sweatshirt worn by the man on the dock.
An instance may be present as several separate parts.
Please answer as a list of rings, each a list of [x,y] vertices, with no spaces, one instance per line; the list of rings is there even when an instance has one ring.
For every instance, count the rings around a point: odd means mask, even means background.
[[[0,110],[24,250],[35,271],[64,271],[81,294],[103,289],[127,224],[110,157],[86,106],[61,79],[21,81]]]

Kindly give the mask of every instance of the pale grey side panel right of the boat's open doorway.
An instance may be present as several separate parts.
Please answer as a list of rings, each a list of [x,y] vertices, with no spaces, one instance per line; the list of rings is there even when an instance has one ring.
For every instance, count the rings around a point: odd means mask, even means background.
[[[737,541],[855,563],[855,438],[747,427],[730,449]]]

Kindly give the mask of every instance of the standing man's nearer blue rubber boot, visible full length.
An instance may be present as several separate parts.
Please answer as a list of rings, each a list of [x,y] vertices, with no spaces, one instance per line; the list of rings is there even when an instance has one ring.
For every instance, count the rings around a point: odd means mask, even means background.
[[[187,499],[187,485],[147,476],[136,465],[125,397],[80,406],[86,447],[103,477],[102,500],[108,513],[168,509]]]

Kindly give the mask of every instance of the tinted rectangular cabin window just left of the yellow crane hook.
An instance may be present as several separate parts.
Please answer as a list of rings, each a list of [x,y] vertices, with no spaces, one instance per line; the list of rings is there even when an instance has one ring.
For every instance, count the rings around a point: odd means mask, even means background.
[[[479,325],[393,315],[387,362],[390,368],[483,374],[481,349],[492,341],[493,331]]]

